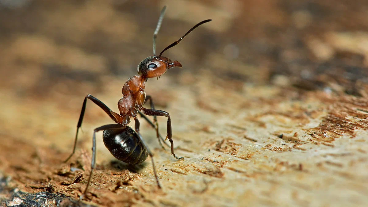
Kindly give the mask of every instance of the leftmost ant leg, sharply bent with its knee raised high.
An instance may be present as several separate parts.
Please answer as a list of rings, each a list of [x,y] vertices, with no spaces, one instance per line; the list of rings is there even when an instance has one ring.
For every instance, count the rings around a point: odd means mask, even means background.
[[[75,152],[75,147],[77,145],[78,131],[79,131],[79,128],[81,127],[81,125],[82,125],[84,112],[86,110],[87,99],[90,99],[91,101],[93,101],[93,103],[96,103],[96,105],[100,106],[100,108],[102,108],[107,113],[107,115],[110,116],[110,118],[114,122],[116,122],[116,123],[121,123],[122,122],[122,117],[120,115],[118,115],[117,113],[113,112],[111,109],[109,109],[109,107],[107,107],[105,105],[105,103],[102,103],[102,101],[100,101],[99,99],[93,97],[90,94],[86,95],[86,97],[84,98],[84,101],[83,101],[81,115],[79,115],[79,120],[78,120],[78,124],[77,124],[77,133],[75,133],[73,152],[69,155],[69,157],[64,162],[67,162],[71,158],[71,156],[73,156],[73,154]]]

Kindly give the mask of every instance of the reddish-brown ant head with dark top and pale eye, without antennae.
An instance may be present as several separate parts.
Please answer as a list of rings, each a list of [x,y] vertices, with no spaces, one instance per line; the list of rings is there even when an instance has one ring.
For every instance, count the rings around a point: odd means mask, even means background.
[[[137,71],[140,76],[154,78],[161,76],[172,67],[181,67],[181,63],[171,62],[167,57],[151,56],[139,63]]]

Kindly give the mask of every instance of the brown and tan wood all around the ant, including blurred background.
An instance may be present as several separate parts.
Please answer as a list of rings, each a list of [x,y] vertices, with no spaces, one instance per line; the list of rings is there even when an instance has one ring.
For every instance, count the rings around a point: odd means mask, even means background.
[[[360,44],[368,40],[365,1],[168,4],[158,48],[193,23],[214,19],[167,52],[183,69],[146,83],[156,108],[170,113],[175,153],[184,161],[160,148],[141,119],[159,190],[150,158],[137,166],[119,162],[98,133],[96,171],[84,201],[78,199],[90,171],[92,131],[112,121],[88,102],[76,154],[64,164],[83,98],[92,94],[117,111],[123,83],[151,55],[156,19],[139,17],[131,2],[65,2],[31,1],[0,14],[18,20],[0,18],[6,31],[0,49],[1,204],[26,204],[22,193],[32,200],[45,191],[47,199],[37,202],[66,206],[367,204],[368,62],[367,45]],[[165,3],[139,8],[158,17]],[[202,13],[184,18],[175,15],[180,8]],[[158,120],[165,135],[166,119]]]

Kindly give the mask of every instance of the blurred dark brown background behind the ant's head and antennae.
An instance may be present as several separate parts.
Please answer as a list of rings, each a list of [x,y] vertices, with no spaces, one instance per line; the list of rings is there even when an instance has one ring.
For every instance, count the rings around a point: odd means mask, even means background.
[[[1,0],[0,87],[45,98],[85,95],[82,85],[99,92],[106,78],[123,85],[152,55],[164,5],[158,52],[199,21],[213,19],[165,52],[184,66],[165,74],[172,84],[208,70],[252,84],[287,84],[286,78],[309,90],[334,81],[364,95],[357,83],[367,77],[364,0]]]

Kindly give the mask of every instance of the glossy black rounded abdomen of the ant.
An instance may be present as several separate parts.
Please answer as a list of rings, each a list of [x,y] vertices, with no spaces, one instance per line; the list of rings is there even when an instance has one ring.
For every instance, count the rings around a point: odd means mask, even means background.
[[[102,137],[106,148],[118,160],[134,165],[144,162],[148,156],[138,134],[131,127],[105,130]]]

